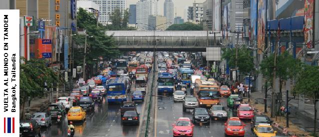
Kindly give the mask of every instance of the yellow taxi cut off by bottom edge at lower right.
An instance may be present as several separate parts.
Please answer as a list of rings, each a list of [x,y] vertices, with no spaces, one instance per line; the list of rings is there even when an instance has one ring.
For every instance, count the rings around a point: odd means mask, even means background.
[[[271,137],[276,136],[277,131],[268,123],[260,123],[254,128],[254,136]]]

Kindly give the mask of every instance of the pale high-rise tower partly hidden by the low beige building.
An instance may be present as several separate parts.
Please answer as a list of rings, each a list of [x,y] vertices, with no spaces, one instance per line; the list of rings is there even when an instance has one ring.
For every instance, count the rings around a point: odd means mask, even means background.
[[[158,15],[158,0],[140,0],[136,3],[136,23],[140,30],[153,29],[148,26],[148,17]]]

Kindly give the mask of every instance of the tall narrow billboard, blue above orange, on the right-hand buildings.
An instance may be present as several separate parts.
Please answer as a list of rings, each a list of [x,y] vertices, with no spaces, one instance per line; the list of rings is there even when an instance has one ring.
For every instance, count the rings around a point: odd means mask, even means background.
[[[263,50],[265,47],[266,1],[258,0],[257,47]],[[258,53],[261,54],[262,51],[258,50]]]

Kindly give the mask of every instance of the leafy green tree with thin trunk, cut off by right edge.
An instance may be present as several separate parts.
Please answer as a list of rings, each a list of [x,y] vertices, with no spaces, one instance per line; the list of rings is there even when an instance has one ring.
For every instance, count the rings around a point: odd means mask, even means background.
[[[317,102],[319,101],[319,67],[305,65],[304,70],[300,71],[297,77],[297,82],[294,87],[294,91],[299,94],[305,94],[307,96],[313,97],[315,104],[315,119],[317,119]],[[314,120],[314,132],[317,129],[317,120]]]

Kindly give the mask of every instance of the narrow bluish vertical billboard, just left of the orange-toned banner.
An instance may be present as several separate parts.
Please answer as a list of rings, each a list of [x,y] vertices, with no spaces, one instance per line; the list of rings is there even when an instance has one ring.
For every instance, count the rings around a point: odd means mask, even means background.
[[[251,41],[255,41],[257,36],[257,0],[251,0],[249,29],[250,29],[249,38]]]

